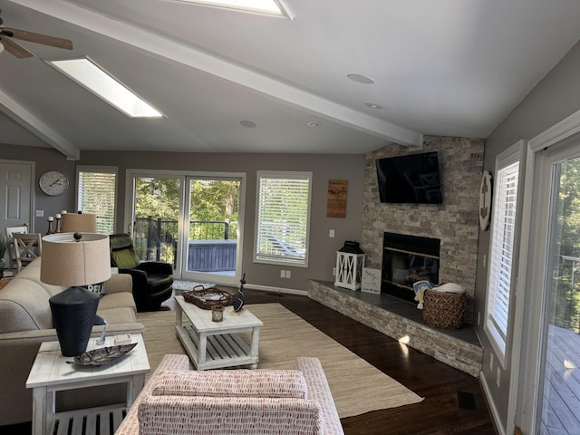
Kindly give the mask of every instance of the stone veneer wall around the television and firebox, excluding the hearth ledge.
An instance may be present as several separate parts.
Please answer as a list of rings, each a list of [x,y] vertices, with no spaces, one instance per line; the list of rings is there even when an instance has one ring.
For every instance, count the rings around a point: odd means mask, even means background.
[[[463,285],[467,294],[465,321],[473,323],[473,296],[478,255],[479,185],[485,140],[425,136],[423,148],[412,151],[390,145],[366,156],[361,246],[365,266],[382,268],[385,231],[440,238],[440,283]],[[375,159],[415,152],[439,151],[443,204],[382,204]]]

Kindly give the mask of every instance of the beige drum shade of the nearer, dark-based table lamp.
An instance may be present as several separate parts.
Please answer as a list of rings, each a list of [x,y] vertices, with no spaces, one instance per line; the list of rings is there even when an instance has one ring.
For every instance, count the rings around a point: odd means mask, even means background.
[[[58,233],[43,237],[40,280],[52,285],[92,285],[111,277],[109,236]]]

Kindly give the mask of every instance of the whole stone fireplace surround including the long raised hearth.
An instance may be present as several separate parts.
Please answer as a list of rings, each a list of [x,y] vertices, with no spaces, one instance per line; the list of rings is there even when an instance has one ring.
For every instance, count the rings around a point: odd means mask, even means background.
[[[456,283],[466,290],[463,328],[430,327],[415,304],[391,295],[353,292],[315,280],[308,283],[312,299],[392,338],[405,338],[411,347],[473,376],[481,371],[483,358],[472,324],[484,143],[483,139],[425,136],[421,150],[390,145],[366,156],[361,240],[365,266],[382,268],[385,232],[440,239],[440,284]],[[382,204],[374,160],[433,150],[439,151],[442,204]]]

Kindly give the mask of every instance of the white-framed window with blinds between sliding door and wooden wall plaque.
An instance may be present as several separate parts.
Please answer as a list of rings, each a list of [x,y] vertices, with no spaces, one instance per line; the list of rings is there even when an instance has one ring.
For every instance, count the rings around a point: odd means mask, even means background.
[[[308,266],[312,172],[257,173],[258,263]]]

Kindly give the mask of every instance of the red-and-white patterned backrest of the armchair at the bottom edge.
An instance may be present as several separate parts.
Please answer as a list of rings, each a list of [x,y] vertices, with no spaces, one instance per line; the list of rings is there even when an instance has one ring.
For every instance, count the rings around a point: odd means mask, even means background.
[[[314,401],[257,397],[149,396],[139,403],[140,435],[320,435]]]

